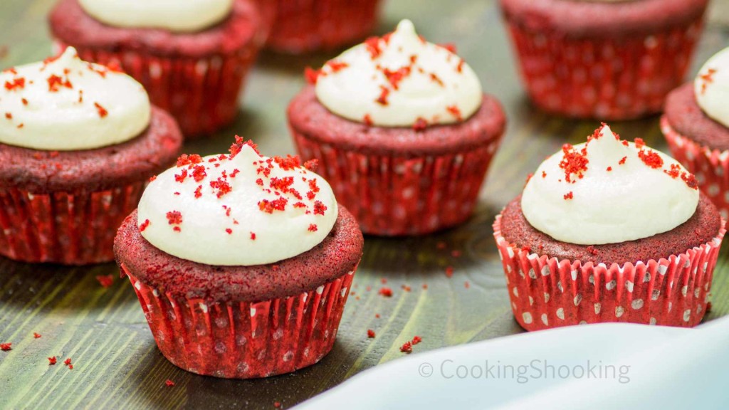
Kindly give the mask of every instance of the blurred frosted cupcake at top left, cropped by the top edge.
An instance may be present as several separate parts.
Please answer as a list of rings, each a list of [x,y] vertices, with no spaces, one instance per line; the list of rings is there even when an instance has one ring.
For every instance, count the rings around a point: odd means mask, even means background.
[[[184,3],[184,4],[183,4]],[[170,112],[185,136],[232,122],[246,74],[264,38],[249,0],[60,0],[50,30],[61,49],[118,64]]]

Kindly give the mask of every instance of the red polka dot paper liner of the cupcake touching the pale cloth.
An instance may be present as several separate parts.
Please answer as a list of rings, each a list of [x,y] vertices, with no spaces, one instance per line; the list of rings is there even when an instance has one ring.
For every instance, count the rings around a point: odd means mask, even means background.
[[[594,265],[539,256],[494,238],[506,274],[514,317],[526,330],[602,322],[693,327],[706,312],[712,275],[725,234],[659,260]]]

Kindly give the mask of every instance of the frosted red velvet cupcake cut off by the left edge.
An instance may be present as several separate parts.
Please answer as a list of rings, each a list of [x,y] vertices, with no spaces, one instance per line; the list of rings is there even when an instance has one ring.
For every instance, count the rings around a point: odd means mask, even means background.
[[[114,258],[114,231],[182,145],[131,77],[57,59],[0,74],[0,255],[72,265]]]

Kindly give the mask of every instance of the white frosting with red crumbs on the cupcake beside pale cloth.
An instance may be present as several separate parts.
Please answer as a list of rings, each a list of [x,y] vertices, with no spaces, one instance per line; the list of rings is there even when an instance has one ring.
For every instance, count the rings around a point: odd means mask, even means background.
[[[685,223],[695,178],[668,155],[620,140],[604,125],[588,142],[547,158],[521,197],[526,220],[553,239],[597,245],[648,238]]]

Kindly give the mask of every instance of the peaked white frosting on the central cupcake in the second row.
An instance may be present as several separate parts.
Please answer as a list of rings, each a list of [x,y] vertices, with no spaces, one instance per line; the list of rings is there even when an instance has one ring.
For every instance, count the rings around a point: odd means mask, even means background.
[[[316,97],[330,112],[378,126],[458,123],[483,99],[471,67],[447,47],[426,42],[410,20],[327,62]]]

